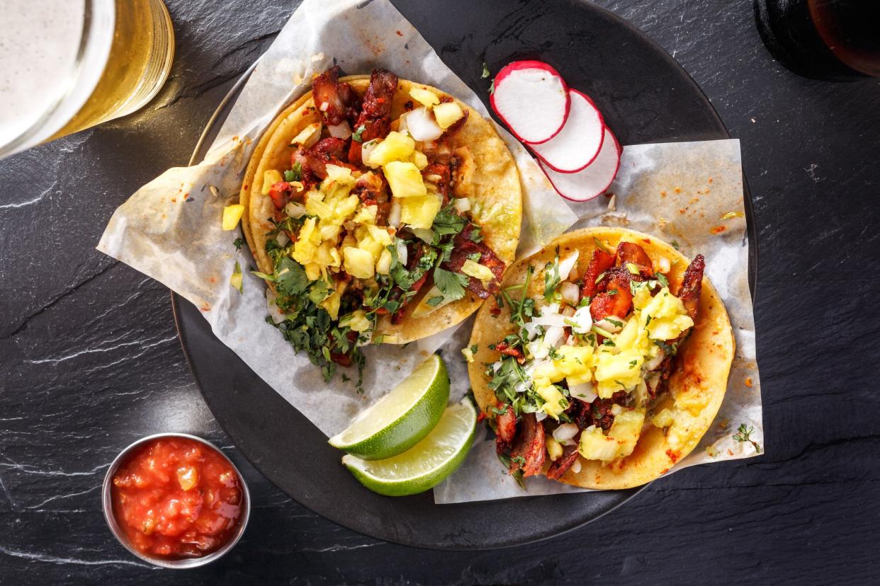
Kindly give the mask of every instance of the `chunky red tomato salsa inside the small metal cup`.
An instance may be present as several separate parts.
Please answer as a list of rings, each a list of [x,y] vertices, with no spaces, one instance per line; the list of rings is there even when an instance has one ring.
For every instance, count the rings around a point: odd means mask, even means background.
[[[242,515],[242,487],[224,456],[188,438],[157,438],[114,475],[114,517],[144,555],[202,557],[224,546]]]

